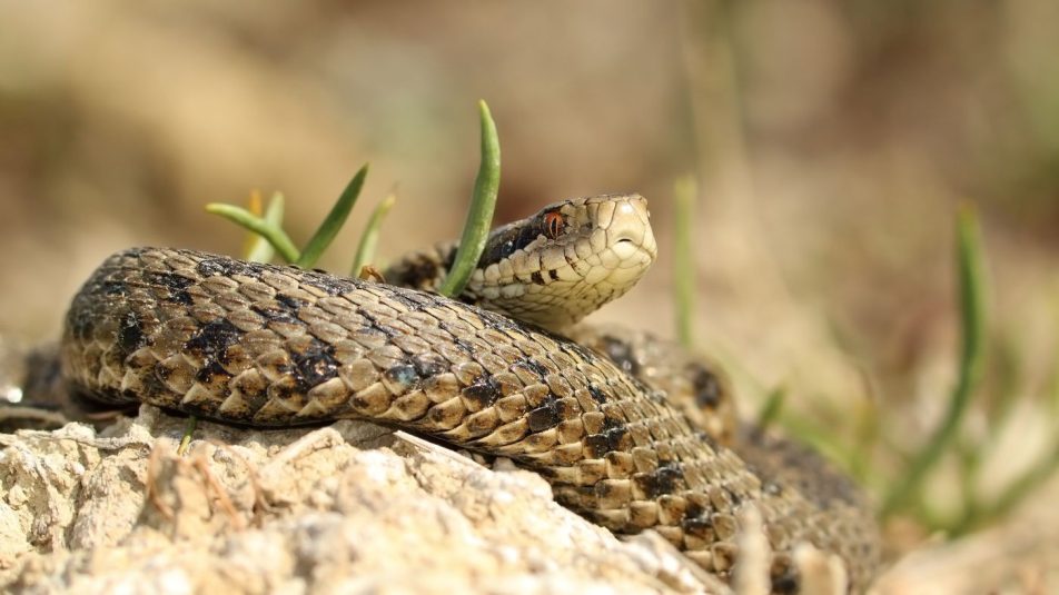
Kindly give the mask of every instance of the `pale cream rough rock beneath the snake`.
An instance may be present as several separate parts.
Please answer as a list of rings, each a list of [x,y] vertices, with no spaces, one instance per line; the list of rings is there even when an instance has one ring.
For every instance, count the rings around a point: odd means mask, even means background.
[[[0,591],[726,593],[493,470],[370,424],[259,430],[145,406],[0,435]]]

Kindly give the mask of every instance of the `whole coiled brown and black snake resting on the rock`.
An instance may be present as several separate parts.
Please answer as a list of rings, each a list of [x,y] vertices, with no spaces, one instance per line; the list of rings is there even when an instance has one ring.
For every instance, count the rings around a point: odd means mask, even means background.
[[[853,589],[870,581],[878,529],[848,479],[785,439],[733,429],[721,375],[695,356],[582,329],[655,259],[643,197],[564,200],[496,228],[449,299],[436,289],[455,251],[409,255],[378,282],[126,249],[73,297],[62,374],[108,404],[255,427],[362,419],[507,457],[584,518],[653,529],[723,578],[753,505],[774,592],[800,588],[801,543],[841,557]]]

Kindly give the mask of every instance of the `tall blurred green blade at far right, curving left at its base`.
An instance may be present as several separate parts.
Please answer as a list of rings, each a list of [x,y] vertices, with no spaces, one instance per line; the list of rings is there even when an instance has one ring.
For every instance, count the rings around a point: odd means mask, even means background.
[[[949,398],[949,407],[941,425],[927,445],[909,464],[904,477],[894,484],[883,503],[883,516],[902,508],[914,496],[930,469],[953,444],[971,395],[979,384],[983,365],[983,334],[986,328],[984,266],[982,264],[981,230],[971,207],[960,209],[957,217],[957,254],[960,286],[960,347],[959,377]]]

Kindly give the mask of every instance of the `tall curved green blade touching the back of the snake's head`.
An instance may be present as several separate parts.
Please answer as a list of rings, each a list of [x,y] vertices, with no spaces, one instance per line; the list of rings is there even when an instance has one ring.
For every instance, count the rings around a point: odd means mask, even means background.
[[[485,240],[493,225],[493,210],[496,207],[496,192],[501,186],[501,145],[496,136],[496,122],[489,115],[485,101],[478,102],[482,120],[482,161],[474,180],[474,196],[467,221],[459,238],[459,249],[448,275],[442,281],[438,291],[443,296],[458,296],[471,279],[471,272],[478,266],[478,258],[485,248]]]

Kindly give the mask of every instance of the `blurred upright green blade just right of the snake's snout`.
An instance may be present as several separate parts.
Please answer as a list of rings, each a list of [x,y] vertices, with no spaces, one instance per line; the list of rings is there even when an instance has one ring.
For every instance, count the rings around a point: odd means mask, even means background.
[[[692,227],[695,216],[695,179],[684,176],[673,188],[675,199],[676,240],[673,254],[674,298],[676,300],[676,336],[685,348],[694,347],[695,311],[695,249],[692,246]]]

